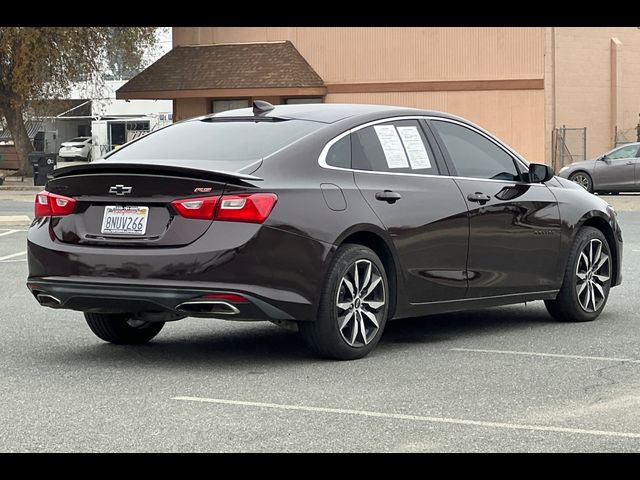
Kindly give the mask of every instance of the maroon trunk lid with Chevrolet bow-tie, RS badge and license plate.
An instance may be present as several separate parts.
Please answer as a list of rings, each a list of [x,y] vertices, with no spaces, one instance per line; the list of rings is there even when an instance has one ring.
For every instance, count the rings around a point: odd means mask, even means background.
[[[52,217],[64,243],[101,246],[187,245],[213,220],[180,216],[171,202],[222,195],[229,183],[253,186],[257,177],[170,162],[96,162],[58,169],[47,191],[76,201],[74,213]]]

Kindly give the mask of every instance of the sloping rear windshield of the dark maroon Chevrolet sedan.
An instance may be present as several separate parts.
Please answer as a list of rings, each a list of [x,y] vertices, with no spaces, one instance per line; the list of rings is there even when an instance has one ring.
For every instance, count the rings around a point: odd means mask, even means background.
[[[259,160],[323,126],[305,120],[195,120],[150,133],[108,160]]]

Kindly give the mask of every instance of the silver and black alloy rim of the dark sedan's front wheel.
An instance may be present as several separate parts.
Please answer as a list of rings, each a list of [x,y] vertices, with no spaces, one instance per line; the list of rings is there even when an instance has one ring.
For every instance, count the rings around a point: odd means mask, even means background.
[[[586,312],[597,311],[607,299],[605,289],[611,278],[611,262],[604,245],[592,239],[585,245],[576,265],[576,294]]]

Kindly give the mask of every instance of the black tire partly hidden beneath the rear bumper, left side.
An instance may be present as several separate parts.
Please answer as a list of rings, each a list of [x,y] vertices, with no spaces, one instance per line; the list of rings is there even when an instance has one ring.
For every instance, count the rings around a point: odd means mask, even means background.
[[[134,320],[124,313],[85,313],[84,318],[98,338],[121,345],[147,343],[164,327],[164,322]]]

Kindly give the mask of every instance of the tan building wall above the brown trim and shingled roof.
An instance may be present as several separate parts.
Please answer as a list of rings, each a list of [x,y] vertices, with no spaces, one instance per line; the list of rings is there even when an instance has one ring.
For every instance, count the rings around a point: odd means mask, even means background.
[[[544,73],[543,28],[174,27],[173,35],[174,45],[291,40],[326,83]]]

